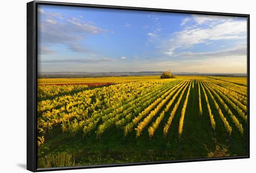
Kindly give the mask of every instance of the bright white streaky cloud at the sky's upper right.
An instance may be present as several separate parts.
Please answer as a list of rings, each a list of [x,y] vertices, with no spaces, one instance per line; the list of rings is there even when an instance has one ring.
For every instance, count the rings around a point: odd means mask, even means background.
[[[208,21],[218,18],[210,17]],[[202,17],[197,19],[197,22],[202,23],[206,20],[207,18]],[[163,41],[163,47],[165,47],[163,53],[174,52],[177,47],[186,49],[200,43],[207,44],[209,40],[244,39],[246,38],[246,32],[247,22],[245,20],[225,20],[223,23],[217,22],[214,27],[185,27],[182,31],[173,33],[169,40]],[[171,55],[173,54],[171,53]]]

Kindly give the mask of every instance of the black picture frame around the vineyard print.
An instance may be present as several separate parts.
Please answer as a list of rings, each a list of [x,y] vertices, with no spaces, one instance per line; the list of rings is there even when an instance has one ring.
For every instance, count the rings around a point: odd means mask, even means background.
[[[38,5],[52,6],[69,6],[69,7],[93,7],[105,9],[122,9],[134,11],[149,11],[149,12],[165,12],[165,13],[186,13],[186,14],[204,14],[230,17],[247,18],[247,103],[248,103],[248,153],[246,156],[232,156],[222,158],[207,158],[207,159],[189,159],[189,160],[170,160],[170,161],[155,161],[155,162],[140,162],[126,164],[103,164],[93,166],[74,166],[74,167],[52,167],[52,168],[37,168],[37,7]],[[27,170],[32,172],[41,171],[57,171],[70,169],[84,168],[100,168],[113,166],[135,166],[135,165],[152,165],[177,162],[192,162],[206,160],[228,160],[228,159],[245,159],[249,158],[249,132],[250,132],[250,114],[249,114],[249,14],[237,13],[214,13],[202,11],[187,11],[187,10],[171,10],[171,9],[156,9],[143,7],[120,7],[78,3],[63,3],[63,2],[47,2],[47,1],[31,1],[27,3]]]

